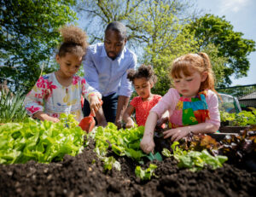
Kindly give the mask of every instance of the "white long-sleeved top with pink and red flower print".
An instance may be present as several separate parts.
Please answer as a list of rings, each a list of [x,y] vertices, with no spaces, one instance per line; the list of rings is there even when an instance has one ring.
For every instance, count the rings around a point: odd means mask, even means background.
[[[65,87],[57,81],[55,72],[52,72],[38,79],[26,95],[24,106],[30,116],[38,111],[55,118],[59,118],[61,113],[72,113],[80,121],[84,118],[81,96],[88,100],[90,94],[101,96],[84,78],[73,76],[73,83]]]

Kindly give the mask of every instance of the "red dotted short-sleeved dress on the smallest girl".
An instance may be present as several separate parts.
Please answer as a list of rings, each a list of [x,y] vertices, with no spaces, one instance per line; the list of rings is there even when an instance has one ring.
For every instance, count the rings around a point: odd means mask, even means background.
[[[150,101],[143,101],[140,96],[132,99],[130,105],[135,107],[137,125],[145,125],[150,109],[160,101],[161,97],[160,95],[154,95]]]

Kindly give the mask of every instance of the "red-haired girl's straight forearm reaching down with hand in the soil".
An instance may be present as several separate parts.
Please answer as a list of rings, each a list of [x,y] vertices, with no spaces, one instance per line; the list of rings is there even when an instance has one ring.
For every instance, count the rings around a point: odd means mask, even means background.
[[[146,154],[154,151],[154,127],[158,119],[157,113],[150,112],[145,125],[143,140],[140,143],[141,148]]]

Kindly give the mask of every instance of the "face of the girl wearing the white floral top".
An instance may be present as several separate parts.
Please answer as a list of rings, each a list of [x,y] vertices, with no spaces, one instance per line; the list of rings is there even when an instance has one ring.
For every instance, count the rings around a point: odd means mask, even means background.
[[[60,65],[60,71],[63,77],[71,78],[79,71],[82,63],[82,57],[67,53],[65,56],[56,55],[56,61]]]

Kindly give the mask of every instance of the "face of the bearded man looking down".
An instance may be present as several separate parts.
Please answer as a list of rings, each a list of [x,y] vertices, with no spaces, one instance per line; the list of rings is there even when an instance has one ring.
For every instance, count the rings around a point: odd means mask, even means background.
[[[108,57],[114,60],[124,49],[126,38],[122,38],[119,32],[108,30],[105,34],[104,46]]]

